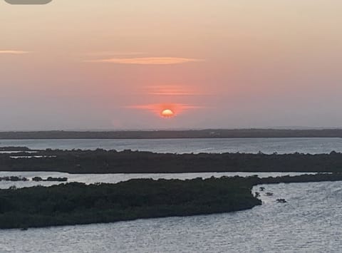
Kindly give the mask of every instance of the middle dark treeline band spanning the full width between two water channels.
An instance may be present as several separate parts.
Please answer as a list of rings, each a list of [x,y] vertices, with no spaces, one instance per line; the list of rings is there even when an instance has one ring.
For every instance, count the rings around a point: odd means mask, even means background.
[[[25,156],[27,153],[15,155]],[[70,173],[342,172],[342,153],[162,154],[125,150],[41,150],[41,158],[0,154],[2,171]]]

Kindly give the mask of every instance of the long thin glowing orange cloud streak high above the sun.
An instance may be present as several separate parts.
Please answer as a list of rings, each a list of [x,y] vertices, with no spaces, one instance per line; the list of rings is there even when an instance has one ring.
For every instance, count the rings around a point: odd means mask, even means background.
[[[134,64],[134,65],[173,65],[190,62],[202,61],[195,58],[178,57],[138,57],[138,58],[108,58],[94,60],[94,63],[115,63],[115,64]]]

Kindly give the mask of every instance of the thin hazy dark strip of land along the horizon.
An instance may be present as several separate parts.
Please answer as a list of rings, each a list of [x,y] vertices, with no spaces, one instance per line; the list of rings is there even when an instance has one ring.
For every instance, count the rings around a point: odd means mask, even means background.
[[[191,138],[342,138],[342,129],[207,129],[120,131],[22,131],[0,132],[0,140],[51,139],[191,139]]]

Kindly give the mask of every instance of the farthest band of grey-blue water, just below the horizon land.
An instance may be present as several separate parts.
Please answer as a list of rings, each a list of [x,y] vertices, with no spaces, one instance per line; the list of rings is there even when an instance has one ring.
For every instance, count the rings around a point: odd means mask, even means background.
[[[31,149],[144,150],[155,153],[330,153],[342,152],[342,138],[232,138],[161,140],[0,140],[0,146]]]

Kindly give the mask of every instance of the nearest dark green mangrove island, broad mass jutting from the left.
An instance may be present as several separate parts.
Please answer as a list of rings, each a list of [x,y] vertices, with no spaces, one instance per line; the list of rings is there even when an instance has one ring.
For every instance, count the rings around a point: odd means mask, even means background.
[[[261,201],[242,177],[69,183],[0,190],[0,228],[117,222],[247,210]]]

